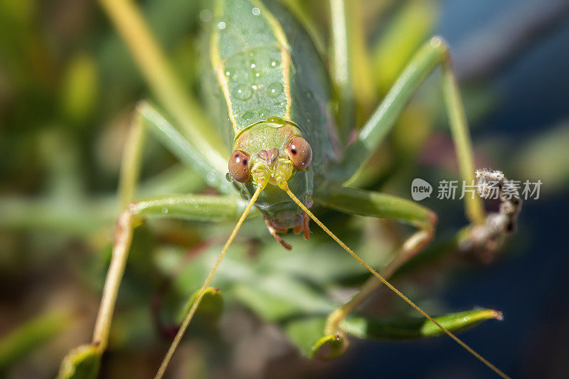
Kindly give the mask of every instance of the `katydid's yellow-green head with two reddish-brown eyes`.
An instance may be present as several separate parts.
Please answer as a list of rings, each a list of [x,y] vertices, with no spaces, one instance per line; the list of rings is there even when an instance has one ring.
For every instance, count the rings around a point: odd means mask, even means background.
[[[240,132],[233,143],[229,174],[249,199],[260,181],[268,183],[255,203],[275,230],[304,225],[304,212],[278,188],[287,181],[308,206],[311,205],[312,148],[302,129],[292,122],[271,117]]]

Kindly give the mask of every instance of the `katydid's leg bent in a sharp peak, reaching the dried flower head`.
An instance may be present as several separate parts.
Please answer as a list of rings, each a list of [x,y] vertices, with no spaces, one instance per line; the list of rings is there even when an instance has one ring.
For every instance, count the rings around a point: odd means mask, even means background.
[[[356,142],[346,149],[344,164],[331,173],[331,178],[341,182],[346,181],[346,185],[349,186],[358,185],[357,171],[359,166],[365,164],[371,158],[418,87],[439,65],[442,66],[442,90],[445,97],[445,107],[450,119],[452,138],[457,149],[459,174],[467,183],[474,182],[472,145],[464,115],[464,107],[462,106],[457,81],[452,71],[447,44],[440,37],[434,37],[425,43],[411,59],[388,92],[388,95],[385,96],[381,105],[377,107],[363,129],[361,129]],[[464,206],[467,218],[472,223],[484,223],[484,208],[479,198],[469,198],[467,196]]]

